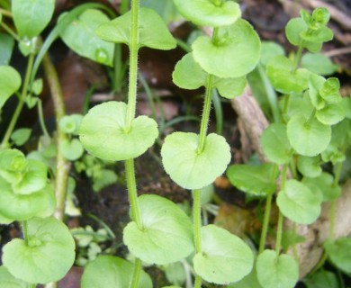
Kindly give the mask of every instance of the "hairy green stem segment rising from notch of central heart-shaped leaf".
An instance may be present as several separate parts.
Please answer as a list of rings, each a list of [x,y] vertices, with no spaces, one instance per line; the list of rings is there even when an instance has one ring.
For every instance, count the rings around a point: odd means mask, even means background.
[[[213,76],[208,75],[206,81],[206,94],[203,104],[202,118],[201,118],[201,127],[200,127],[200,136],[199,136],[199,144],[197,147],[197,153],[202,153],[204,148],[204,143],[207,135],[207,128],[210,120],[210,112],[211,112],[211,99],[212,99],[212,91],[213,91]]]

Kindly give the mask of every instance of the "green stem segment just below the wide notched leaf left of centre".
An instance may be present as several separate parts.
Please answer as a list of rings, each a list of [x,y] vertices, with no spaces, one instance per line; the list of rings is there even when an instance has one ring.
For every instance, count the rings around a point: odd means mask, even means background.
[[[135,182],[134,159],[125,161],[125,172],[127,176],[127,189],[130,198],[131,218],[137,223],[138,228],[143,229],[141,223],[137,185]]]

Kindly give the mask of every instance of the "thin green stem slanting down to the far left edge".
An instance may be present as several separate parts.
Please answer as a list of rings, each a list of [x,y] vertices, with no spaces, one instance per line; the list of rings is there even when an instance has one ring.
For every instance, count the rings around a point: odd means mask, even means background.
[[[19,99],[19,102],[17,104],[17,107],[14,111],[14,115],[13,118],[10,121],[10,124],[7,127],[7,130],[4,134],[4,139],[1,143],[1,148],[8,148],[9,145],[9,140],[11,138],[11,134],[14,131],[14,128],[16,126],[16,123],[18,121],[18,118],[20,117],[20,114],[22,112],[23,109],[23,105],[25,103],[25,99],[27,97],[27,93],[28,93],[28,85],[29,85],[29,81],[31,79],[31,68],[33,66],[33,62],[34,62],[34,55],[30,54],[29,58],[28,58],[28,65],[27,65],[27,70],[25,72],[25,76],[24,76],[24,82],[23,82],[23,89],[22,89],[22,94],[21,94],[21,98]]]

